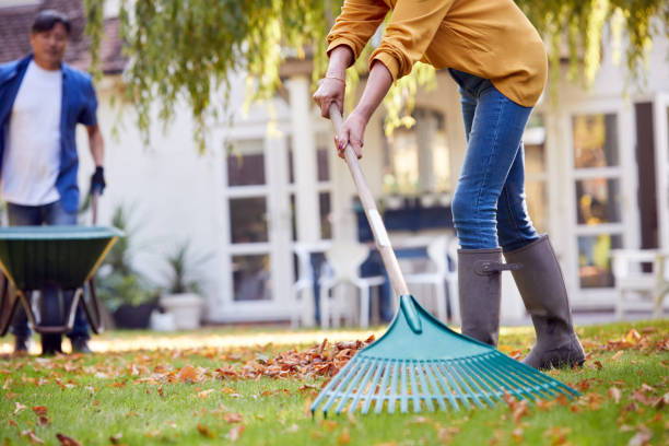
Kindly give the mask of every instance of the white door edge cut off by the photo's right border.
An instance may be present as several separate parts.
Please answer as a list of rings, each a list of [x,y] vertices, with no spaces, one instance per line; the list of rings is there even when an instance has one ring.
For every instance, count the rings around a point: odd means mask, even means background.
[[[653,111],[659,242],[669,249],[669,93],[656,97]]]

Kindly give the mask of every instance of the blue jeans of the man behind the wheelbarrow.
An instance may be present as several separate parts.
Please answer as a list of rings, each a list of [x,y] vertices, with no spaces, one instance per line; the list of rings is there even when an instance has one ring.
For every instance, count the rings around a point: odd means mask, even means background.
[[[62,209],[59,201],[44,206],[22,206],[7,203],[7,211],[10,226],[42,226],[43,224],[55,225],[74,225],[77,224],[77,212],[68,212]],[[58,291],[55,289],[42,290],[46,298],[55,295]],[[69,292],[68,298],[71,298]],[[30,337],[31,329],[27,324],[27,317],[23,306],[19,305],[14,320],[12,321],[12,333],[17,337]],[[74,314],[74,326],[72,331],[68,333],[69,338],[85,338],[89,339],[89,322],[86,321],[84,310],[81,305],[77,307]]]

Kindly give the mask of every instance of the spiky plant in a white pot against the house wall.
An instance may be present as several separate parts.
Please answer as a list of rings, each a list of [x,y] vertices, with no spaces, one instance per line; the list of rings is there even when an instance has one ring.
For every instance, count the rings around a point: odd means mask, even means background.
[[[169,269],[167,286],[161,295],[161,306],[174,315],[175,326],[179,330],[193,330],[200,327],[204,301],[200,295],[198,267],[209,260],[209,255],[192,258],[188,243],[179,244],[173,254],[167,256]]]

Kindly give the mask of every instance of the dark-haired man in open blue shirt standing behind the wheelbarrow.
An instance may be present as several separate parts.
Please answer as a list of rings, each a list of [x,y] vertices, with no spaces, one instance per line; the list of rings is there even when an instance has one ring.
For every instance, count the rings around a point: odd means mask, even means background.
[[[75,127],[83,124],[102,193],[104,141],[91,77],[63,63],[71,25],[54,10],[36,16],[33,52],[0,66],[0,187],[10,225],[74,225],[79,208]],[[12,325],[14,352],[26,353],[31,330],[23,308]],[[89,325],[79,306],[68,333],[72,351],[90,353]]]

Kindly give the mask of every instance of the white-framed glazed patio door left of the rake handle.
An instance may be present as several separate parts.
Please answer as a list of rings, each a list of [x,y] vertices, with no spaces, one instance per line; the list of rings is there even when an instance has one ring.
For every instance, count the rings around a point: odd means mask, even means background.
[[[292,211],[285,137],[265,131],[232,141],[223,157],[223,317],[289,317]]]

